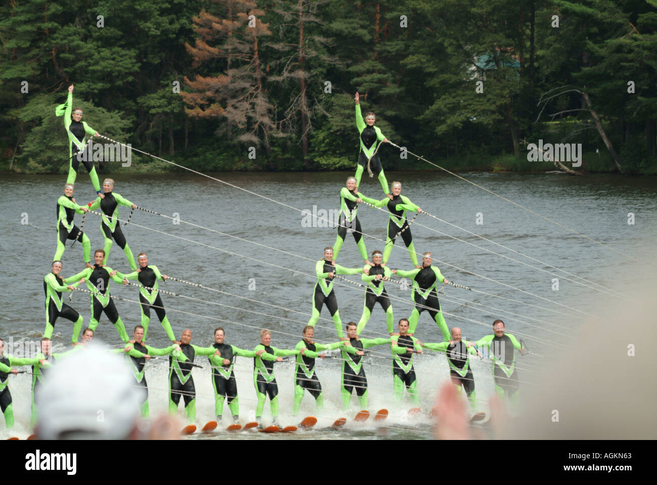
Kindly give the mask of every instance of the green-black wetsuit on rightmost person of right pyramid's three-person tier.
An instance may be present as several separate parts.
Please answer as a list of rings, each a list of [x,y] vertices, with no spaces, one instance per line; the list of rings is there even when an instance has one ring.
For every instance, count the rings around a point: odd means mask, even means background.
[[[431,265],[411,269],[411,271],[397,269],[397,276],[411,278],[413,280],[413,302],[415,302],[415,308],[413,308],[413,312],[411,312],[411,316],[409,317],[409,333],[415,333],[417,322],[420,319],[420,313],[427,310],[443,333],[445,341],[449,340],[447,322],[445,322],[443,312],[440,310],[440,302],[438,302],[437,285],[438,283],[443,283],[445,279],[440,273],[440,269]]]

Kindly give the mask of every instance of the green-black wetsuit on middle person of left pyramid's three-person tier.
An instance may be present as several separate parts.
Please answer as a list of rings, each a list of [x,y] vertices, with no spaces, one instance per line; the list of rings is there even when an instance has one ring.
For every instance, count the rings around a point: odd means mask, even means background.
[[[88,267],[80,274],[87,283],[87,288],[91,291],[91,319],[89,320],[89,328],[96,331],[98,327],[98,319],[101,313],[104,312],[105,316],[110,319],[116,331],[118,331],[121,340],[127,342],[128,336],[125,333],[125,326],[121,317],[119,316],[114,300],[110,298],[110,282],[114,280],[116,283],[122,284],[123,275],[117,271],[116,275],[110,276],[112,273],[111,267],[93,265],[93,268]]]

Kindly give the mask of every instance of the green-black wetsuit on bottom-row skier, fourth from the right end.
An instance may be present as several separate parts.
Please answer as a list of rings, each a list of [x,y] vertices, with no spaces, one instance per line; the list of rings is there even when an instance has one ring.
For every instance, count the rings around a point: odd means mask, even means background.
[[[358,403],[361,409],[367,409],[367,377],[363,369],[363,356],[356,352],[365,350],[374,345],[390,344],[390,338],[361,338],[356,340],[350,338],[351,346],[340,346],[342,354],[342,382],[340,392],[342,393],[342,409],[349,409],[351,404],[351,393],[356,390]],[[342,342],[344,343],[344,342]]]

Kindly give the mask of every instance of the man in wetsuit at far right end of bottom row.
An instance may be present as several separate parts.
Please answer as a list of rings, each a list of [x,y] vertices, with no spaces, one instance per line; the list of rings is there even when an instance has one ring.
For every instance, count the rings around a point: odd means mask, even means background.
[[[507,396],[514,404],[520,398],[520,382],[516,372],[515,349],[524,355],[526,350],[510,333],[505,333],[504,322],[497,319],[493,322],[493,335],[486,335],[471,345],[489,348],[489,356],[493,362],[493,379],[495,392],[498,396]]]

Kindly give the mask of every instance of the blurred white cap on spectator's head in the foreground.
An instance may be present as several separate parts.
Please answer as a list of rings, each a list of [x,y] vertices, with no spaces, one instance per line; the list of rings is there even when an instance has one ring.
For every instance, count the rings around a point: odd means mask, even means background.
[[[61,358],[35,396],[39,438],[127,438],[140,415],[135,384],[124,360],[102,348]]]

